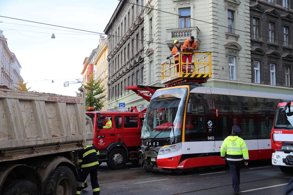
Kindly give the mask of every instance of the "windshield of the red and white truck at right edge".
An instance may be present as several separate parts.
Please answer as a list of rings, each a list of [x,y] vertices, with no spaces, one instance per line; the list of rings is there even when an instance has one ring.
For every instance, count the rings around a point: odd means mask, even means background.
[[[286,108],[283,111],[283,107],[277,109],[274,128],[275,129],[293,129],[293,110]]]

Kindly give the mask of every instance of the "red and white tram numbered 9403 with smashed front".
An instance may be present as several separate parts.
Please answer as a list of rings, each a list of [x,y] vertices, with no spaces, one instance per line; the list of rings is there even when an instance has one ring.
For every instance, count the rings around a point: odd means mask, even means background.
[[[265,110],[292,95],[175,86],[158,89],[149,102],[142,127],[144,170],[184,170],[225,164],[220,146],[241,128],[250,160],[271,159],[270,133]],[[274,113],[270,116],[271,124]]]

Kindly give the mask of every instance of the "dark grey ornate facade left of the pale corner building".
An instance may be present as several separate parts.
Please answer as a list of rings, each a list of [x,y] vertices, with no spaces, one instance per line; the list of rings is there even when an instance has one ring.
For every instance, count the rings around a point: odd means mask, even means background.
[[[108,35],[108,108],[147,102],[126,86],[144,85],[144,0],[120,1],[104,32]]]

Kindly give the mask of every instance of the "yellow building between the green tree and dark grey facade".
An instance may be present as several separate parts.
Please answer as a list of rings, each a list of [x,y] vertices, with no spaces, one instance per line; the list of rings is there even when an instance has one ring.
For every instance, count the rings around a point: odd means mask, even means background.
[[[94,65],[95,65],[95,78],[101,80],[101,85],[104,86],[105,91],[99,96],[105,95],[103,100],[103,107],[101,111],[107,111],[108,109],[108,37],[100,36],[99,50],[97,51]]]

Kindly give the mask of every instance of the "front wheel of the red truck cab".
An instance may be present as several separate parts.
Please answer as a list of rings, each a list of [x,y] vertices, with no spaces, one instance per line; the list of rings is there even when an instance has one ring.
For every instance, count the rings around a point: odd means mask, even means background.
[[[127,161],[127,155],[121,148],[114,148],[108,156],[107,165],[111,169],[122,169]]]

